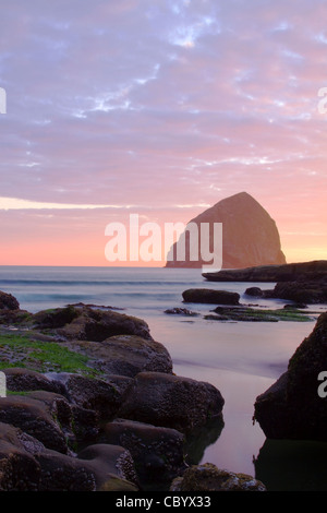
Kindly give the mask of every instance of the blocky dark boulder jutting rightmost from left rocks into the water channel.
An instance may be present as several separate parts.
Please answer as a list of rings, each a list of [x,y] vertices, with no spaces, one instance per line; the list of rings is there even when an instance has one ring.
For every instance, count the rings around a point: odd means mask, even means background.
[[[223,398],[211,384],[162,372],[141,372],[118,416],[183,433],[221,417]]]

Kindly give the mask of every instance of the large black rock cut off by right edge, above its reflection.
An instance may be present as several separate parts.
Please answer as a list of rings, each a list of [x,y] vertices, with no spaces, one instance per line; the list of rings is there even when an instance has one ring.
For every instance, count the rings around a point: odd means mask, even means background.
[[[255,402],[254,419],[270,439],[327,440],[327,399],[318,394],[326,371],[327,313],[290,358],[284,372]]]

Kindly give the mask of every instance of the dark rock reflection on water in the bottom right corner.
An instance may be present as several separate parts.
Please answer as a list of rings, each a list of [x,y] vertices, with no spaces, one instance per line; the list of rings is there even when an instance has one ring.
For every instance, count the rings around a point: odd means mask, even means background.
[[[266,440],[254,462],[269,491],[327,491],[327,443]]]

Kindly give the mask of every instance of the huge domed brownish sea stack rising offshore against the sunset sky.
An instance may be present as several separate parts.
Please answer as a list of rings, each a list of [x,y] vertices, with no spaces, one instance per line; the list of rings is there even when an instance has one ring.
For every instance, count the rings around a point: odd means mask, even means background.
[[[201,250],[201,224],[210,227],[210,252],[215,249],[221,258],[211,261]],[[214,223],[222,224],[222,253],[214,241]],[[197,226],[198,241],[185,230],[184,235],[170,248],[167,255],[167,267],[203,267],[220,261],[221,269],[243,269],[257,265],[280,265],[286,263],[281,251],[279,232],[276,223],[263,206],[246,192],[226,198],[189,222]],[[193,226],[194,226],[193,225]],[[191,231],[192,234],[192,231]],[[184,237],[184,239],[183,239]],[[196,248],[194,247],[196,244]],[[185,247],[185,258],[177,252],[178,244]],[[192,246],[193,244],[193,246]],[[207,242],[205,246],[208,246]],[[190,251],[191,248],[191,251]],[[194,251],[195,250],[195,251]],[[194,255],[197,259],[194,260]]]

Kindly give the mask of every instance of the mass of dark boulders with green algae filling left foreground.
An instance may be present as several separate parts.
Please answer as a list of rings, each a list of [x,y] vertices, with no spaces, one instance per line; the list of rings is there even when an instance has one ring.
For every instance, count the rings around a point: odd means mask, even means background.
[[[143,320],[81,303],[32,314],[0,293],[0,491],[169,490],[196,473],[186,452],[219,437],[225,399],[175,375]],[[219,486],[211,467],[201,489]]]

